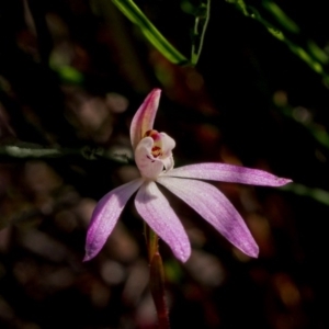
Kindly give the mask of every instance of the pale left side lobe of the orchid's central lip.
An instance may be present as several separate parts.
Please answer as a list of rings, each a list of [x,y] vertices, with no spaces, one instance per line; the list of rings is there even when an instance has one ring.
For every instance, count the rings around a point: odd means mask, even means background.
[[[162,160],[155,158],[151,154],[154,139],[151,137],[143,138],[135,149],[135,162],[140,174],[148,179],[155,179],[163,170]]]

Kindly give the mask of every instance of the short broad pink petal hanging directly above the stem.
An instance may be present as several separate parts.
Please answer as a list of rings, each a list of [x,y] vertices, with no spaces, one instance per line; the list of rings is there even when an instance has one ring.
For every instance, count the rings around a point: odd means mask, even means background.
[[[191,254],[188,235],[155,182],[146,182],[139,189],[135,206],[150,228],[169,245],[174,256],[185,262]]]

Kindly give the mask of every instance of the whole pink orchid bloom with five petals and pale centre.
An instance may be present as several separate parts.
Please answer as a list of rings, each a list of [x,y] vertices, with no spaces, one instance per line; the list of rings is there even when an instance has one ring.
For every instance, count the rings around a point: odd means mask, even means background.
[[[235,247],[250,257],[258,257],[259,248],[236,208],[215,186],[200,180],[266,186],[281,186],[291,180],[226,163],[200,163],[173,169],[174,140],[164,133],[154,131],[160,93],[159,89],[155,89],[148,94],[131,126],[140,178],[112,190],[98,203],[88,229],[84,261],[102,249],[136,191],[135,206],[139,215],[169,245],[179,260],[185,262],[189,259],[191,246],[188,235],[157,184],[189,204]]]

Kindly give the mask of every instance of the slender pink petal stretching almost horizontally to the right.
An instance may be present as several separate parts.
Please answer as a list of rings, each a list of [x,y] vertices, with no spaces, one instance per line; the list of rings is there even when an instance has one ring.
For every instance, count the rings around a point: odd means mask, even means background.
[[[200,163],[184,166],[174,168],[163,173],[163,175],[263,186],[282,186],[292,182],[290,179],[280,178],[263,170],[227,163]]]

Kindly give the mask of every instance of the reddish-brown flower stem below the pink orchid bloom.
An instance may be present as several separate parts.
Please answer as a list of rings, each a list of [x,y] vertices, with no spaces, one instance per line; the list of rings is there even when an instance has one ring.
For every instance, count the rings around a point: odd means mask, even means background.
[[[159,252],[159,238],[146,223],[144,229],[150,268],[149,287],[157,309],[159,329],[169,329],[169,316],[164,298],[164,271]]]

